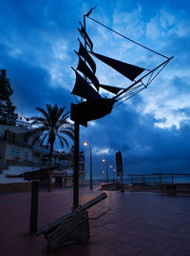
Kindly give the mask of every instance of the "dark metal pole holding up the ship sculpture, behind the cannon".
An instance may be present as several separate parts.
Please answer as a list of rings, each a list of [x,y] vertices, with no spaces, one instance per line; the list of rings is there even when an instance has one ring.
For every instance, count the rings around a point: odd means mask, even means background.
[[[79,124],[74,123],[73,209],[79,207]]]

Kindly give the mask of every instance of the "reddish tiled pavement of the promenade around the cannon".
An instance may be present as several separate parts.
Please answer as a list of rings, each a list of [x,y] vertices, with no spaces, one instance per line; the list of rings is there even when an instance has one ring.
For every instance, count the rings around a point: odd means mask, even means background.
[[[80,204],[102,191],[80,188]],[[47,225],[70,211],[72,189],[41,191],[38,226]],[[23,236],[28,231],[30,193],[0,195],[0,255],[47,255],[44,235]],[[91,207],[91,239],[86,246],[67,246],[56,255],[190,255],[190,196],[166,196],[151,192],[107,192],[107,199]]]

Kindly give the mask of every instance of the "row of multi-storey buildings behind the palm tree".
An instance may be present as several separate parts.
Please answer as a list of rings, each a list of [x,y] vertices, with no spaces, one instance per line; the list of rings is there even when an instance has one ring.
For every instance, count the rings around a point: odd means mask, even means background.
[[[31,146],[32,138],[28,138],[26,134],[29,128],[24,126],[7,126],[0,125],[0,171],[2,170],[18,170],[36,169],[48,167],[49,148],[47,146],[39,146],[38,143]],[[63,173],[65,179],[72,181],[73,179],[73,163],[74,150],[70,152],[63,150],[54,150],[53,165],[59,166],[54,171],[54,176]],[[15,173],[15,172],[14,172]],[[59,174],[59,175],[58,175]],[[79,174],[80,183],[85,182],[85,154],[80,152],[79,156]],[[61,174],[62,175],[62,174]]]

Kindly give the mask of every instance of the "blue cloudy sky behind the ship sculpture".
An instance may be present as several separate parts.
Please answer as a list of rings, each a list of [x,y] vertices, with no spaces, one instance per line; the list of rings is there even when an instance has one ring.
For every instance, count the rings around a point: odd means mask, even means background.
[[[36,115],[36,107],[75,102],[71,66],[77,67],[77,30],[83,15],[174,59],[148,89],[110,115],[81,127],[81,149],[88,169],[88,141],[96,176],[115,166],[123,152],[124,173],[188,171],[190,166],[190,3],[188,0],[1,0],[0,69],[7,69],[17,113]],[[86,20],[94,51],[152,69],[161,57],[140,49],[109,30]],[[124,77],[97,64],[101,83],[125,88]],[[102,92],[102,91],[101,91]],[[104,93],[104,92],[102,92]],[[104,95],[104,94],[103,94]],[[105,95],[109,96],[109,95]],[[59,146],[57,146],[59,148]]]

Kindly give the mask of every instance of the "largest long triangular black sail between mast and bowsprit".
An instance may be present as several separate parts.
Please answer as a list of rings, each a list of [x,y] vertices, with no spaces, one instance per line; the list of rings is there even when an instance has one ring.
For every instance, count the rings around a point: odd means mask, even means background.
[[[121,74],[123,74],[125,77],[127,77],[131,81],[133,81],[138,75],[142,73],[142,71],[145,70],[140,67],[137,67],[122,61],[118,61],[92,51],[90,51],[90,53],[93,54],[96,58],[98,58],[102,62],[104,62],[106,65],[111,67],[112,69],[115,69]]]

